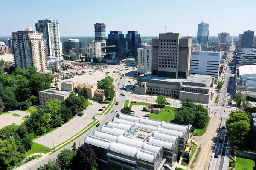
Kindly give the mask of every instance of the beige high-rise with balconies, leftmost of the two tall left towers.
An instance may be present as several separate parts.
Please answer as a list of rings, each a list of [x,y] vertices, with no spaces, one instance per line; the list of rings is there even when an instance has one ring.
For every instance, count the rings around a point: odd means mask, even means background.
[[[47,71],[46,40],[43,33],[26,28],[26,31],[12,33],[12,49],[17,68],[36,67]]]

